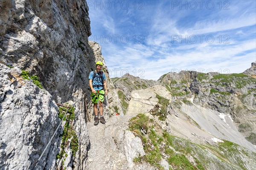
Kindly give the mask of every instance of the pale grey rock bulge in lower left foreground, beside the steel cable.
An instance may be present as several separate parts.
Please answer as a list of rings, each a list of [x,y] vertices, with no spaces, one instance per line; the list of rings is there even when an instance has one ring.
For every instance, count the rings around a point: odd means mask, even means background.
[[[20,76],[18,68],[0,64],[0,167],[49,169],[55,167],[60,144],[50,142],[60,119],[52,96]],[[39,157],[47,147],[40,160]]]

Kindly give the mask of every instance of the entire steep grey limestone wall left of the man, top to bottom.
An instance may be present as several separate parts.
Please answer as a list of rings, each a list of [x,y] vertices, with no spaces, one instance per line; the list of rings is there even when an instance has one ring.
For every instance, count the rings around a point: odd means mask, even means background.
[[[71,109],[73,116],[62,123],[36,169],[85,169],[90,143],[86,122],[93,117],[88,76],[96,59],[103,58],[99,45],[88,43],[88,10],[85,0],[0,1],[0,125],[5,130],[0,134],[1,169],[32,169],[60,122],[56,116],[61,111],[55,103],[74,105],[75,110]],[[17,79],[10,68],[18,70]],[[44,90],[23,80],[20,72],[25,71],[37,75]],[[107,82],[111,91],[109,78]],[[113,114],[114,106],[121,107],[115,95],[109,93],[112,108],[105,108],[106,116]],[[19,147],[4,142],[12,143],[14,136],[22,143]]]

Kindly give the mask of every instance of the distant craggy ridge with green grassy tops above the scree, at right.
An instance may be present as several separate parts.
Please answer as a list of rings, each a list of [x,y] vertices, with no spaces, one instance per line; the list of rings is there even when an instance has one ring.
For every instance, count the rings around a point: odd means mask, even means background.
[[[239,132],[255,141],[256,73],[255,64],[245,74],[203,74],[195,71],[168,73],[160,77],[173,95],[173,101],[188,101],[225,115],[236,122]]]

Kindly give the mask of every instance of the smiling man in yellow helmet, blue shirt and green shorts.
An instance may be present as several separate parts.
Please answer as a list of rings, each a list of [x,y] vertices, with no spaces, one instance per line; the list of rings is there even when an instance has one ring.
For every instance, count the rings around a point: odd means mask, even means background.
[[[106,83],[106,76],[102,71],[103,63],[101,61],[96,62],[96,71],[91,71],[89,75],[89,85],[91,89],[91,99],[94,103],[94,125],[99,124],[102,122],[102,124],[105,124],[106,121],[103,117],[103,102],[104,102],[104,96],[108,94],[107,90],[107,83]],[[105,91],[104,91],[105,90]],[[99,114],[98,115],[98,105],[99,102]]]

